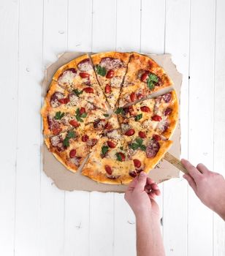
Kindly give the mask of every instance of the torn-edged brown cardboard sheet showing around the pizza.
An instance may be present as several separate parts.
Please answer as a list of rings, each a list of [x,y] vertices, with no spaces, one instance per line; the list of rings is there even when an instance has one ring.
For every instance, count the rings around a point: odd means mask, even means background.
[[[53,74],[56,70],[61,67],[66,62],[77,58],[85,53],[68,52],[58,56],[58,61],[50,65],[45,70],[45,79],[42,84],[42,97],[45,97],[47,89],[53,78]],[[175,64],[172,63],[171,56],[169,54],[155,55],[147,54],[153,60],[155,60],[164,70],[167,72],[170,78],[174,82],[174,89],[178,94],[178,99],[180,102],[180,86],[182,83],[182,75],[178,72]],[[175,157],[180,158],[180,114],[178,126],[172,135],[171,140],[173,140],[172,147],[169,149],[169,153],[173,154]],[[84,191],[99,191],[99,192],[124,192],[127,185],[111,185],[111,184],[101,184],[96,181],[91,180],[86,176],[81,175],[78,171],[77,173],[72,173],[67,170],[64,165],[62,165],[58,160],[47,150],[45,145],[42,146],[42,157],[43,157],[43,170],[46,175],[53,180],[53,183],[58,187],[58,189],[63,190],[84,190]],[[150,170],[148,176],[153,178],[154,181],[160,183],[162,181],[167,181],[170,178],[178,178],[179,170],[173,167],[166,160],[162,160],[155,169]]]

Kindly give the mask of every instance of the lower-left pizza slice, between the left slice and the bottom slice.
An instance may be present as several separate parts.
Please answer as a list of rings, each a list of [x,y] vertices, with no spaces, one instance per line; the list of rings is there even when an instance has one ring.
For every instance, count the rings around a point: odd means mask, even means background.
[[[45,138],[45,144],[59,162],[76,172],[98,140],[99,135],[94,132],[72,129]]]

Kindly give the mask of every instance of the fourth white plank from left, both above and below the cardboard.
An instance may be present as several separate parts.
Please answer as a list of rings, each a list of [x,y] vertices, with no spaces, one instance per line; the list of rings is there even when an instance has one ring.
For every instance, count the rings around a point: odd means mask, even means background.
[[[68,4],[68,49],[91,52],[92,1],[71,1]],[[65,194],[64,255],[88,255],[90,230],[90,193]]]

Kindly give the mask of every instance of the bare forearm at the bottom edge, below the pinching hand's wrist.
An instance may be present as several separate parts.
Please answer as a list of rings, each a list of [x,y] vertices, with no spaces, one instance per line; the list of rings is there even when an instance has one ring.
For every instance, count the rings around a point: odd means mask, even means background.
[[[148,216],[136,218],[137,256],[164,256],[159,219]]]

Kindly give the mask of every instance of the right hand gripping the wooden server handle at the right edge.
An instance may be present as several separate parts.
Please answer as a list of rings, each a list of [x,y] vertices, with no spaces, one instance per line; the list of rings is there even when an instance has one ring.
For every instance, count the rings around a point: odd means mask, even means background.
[[[183,178],[186,178],[197,197],[205,206],[216,211],[225,220],[224,177],[219,173],[208,170],[203,164],[194,167],[185,159],[182,159],[181,162],[188,170],[188,174],[185,174]]]

